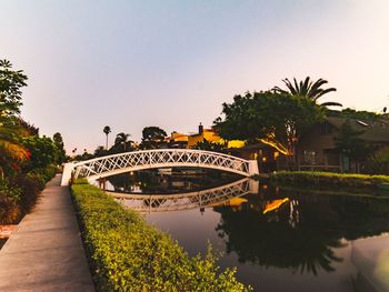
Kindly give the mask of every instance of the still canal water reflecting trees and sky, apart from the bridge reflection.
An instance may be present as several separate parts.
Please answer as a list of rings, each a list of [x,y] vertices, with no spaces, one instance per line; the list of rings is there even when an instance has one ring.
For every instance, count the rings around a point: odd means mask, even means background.
[[[118,177],[113,185],[117,191],[182,193],[231,179],[237,178],[143,173]],[[221,254],[221,269],[236,266],[237,278],[255,291],[375,291],[356,260],[357,248],[360,241],[369,248],[367,239],[388,236],[389,200],[262,184],[256,193],[203,208],[150,212],[146,220],[190,255],[206,253],[211,243]]]

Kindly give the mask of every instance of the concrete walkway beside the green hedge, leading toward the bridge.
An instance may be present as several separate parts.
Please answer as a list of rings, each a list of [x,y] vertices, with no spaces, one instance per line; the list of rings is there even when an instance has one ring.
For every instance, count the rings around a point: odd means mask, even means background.
[[[61,175],[0,251],[0,291],[94,291],[73,205]]]

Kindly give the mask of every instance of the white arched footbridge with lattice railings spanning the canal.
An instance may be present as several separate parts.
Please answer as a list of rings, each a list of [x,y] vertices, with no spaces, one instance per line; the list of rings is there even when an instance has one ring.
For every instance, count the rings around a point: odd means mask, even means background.
[[[132,151],[64,164],[61,185],[73,178],[101,179],[123,172],[174,167],[206,168],[243,177],[258,174],[256,160],[192,149],[156,149]]]

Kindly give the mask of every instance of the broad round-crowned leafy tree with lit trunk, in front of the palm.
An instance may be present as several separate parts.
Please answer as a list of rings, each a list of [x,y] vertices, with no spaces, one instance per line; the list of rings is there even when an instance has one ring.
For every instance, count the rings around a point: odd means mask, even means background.
[[[222,107],[225,119],[213,123],[223,139],[260,141],[287,155],[293,155],[301,132],[323,118],[311,99],[270,91],[236,95]]]

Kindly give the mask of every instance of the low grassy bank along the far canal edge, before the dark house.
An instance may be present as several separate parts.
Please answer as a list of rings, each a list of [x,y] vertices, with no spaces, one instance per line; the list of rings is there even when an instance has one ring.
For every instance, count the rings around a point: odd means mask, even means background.
[[[389,175],[368,175],[316,171],[279,171],[271,173],[270,182],[280,185],[327,188],[350,188],[378,190],[389,183]]]

